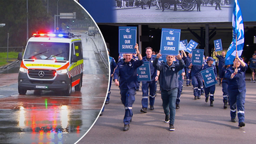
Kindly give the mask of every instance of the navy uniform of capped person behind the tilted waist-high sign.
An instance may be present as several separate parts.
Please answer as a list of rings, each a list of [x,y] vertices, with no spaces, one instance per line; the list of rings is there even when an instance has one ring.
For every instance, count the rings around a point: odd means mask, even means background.
[[[209,69],[209,68],[213,68],[214,74],[215,76],[217,75],[217,70],[215,65],[205,65],[203,66],[203,70]],[[205,96],[208,99],[209,94],[210,94],[210,101],[214,101],[214,92],[215,92],[215,85],[210,86],[210,87],[205,87]]]

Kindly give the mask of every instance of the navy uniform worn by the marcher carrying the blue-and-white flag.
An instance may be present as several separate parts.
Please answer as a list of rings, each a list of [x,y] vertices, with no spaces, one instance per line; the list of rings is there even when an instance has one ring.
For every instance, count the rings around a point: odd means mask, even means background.
[[[231,79],[231,74],[235,72],[233,65],[228,67],[225,73],[225,78],[228,80],[228,95],[230,101],[230,116],[235,118],[236,109],[238,109],[238,119],[239,123],[245,122],[245,71],[248,66],[238,67],[238,74],[235,74],[233,79]]]

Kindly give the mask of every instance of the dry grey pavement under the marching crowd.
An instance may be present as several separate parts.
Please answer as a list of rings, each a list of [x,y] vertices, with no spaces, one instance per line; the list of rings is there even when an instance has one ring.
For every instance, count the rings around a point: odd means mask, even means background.
[[[250,74],[247,74],[247,79]],[[223,109],[222,88],[216,85],[214,106],[205,102],[204,96],[193,100],[193,89],[183,87],[181,108],[176,110],[175,131],[164,123],[161,94],[157,94],[155,109],[141,113],[141,89],[133,105],[134,116],[129,131],[123,131],[124,106],[119,88],[112,83],[110,104],[95,125],[78,143],[255,143],[256,133],[256,83],[249,81],[245,99],[245,127],[230,121],[230,109]],[[141,84],[142,86],[142,84]],[[159,90],[159,87],[157,87]],[[238,118],[237,118],[238,121]]]

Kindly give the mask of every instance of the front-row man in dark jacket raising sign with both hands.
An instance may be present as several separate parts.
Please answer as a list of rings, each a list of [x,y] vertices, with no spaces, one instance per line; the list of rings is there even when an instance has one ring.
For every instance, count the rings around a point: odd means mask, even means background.
[[[161,53],[156,55],[153,66],[160,71],[161,99],[166,114],[165,122],[169,123],[169,131],[174,131],[174,120],[176,113],[176,98],[178,93],[178,71],[185,66],[181,55],[166,55],[166,62],[158,62]],[[177,59],[176,62],[174,62]]]

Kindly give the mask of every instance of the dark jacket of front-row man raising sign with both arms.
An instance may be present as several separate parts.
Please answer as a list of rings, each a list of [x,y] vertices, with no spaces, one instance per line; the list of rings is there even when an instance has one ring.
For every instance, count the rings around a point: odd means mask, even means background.
[[[161,89],[170,91],[172,89],[178,88],[178,71],[182,70],[185,66],[184,61],[181,59],[178,62],[173,62],[171,66],[167,62],[158,62],[156,58],[153,62],[156,70],[160,71],[160,86]]]

